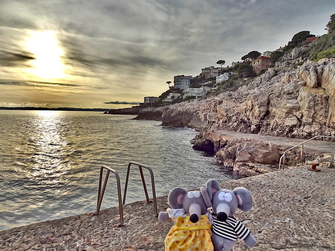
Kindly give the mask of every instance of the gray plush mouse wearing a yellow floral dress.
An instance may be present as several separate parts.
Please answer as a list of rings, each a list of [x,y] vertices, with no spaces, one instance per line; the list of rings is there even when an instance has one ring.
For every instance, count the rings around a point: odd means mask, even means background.
[[[214,250],[211,241],[211,213],[207,210],[211,204],[208,199],[206,202],[209,204],[206,204],[202,192],[207,196],[205,187],[201,187],[200,191],[188,192],[177,187],[169,193],[167,202],[171,208],[158,215],[161,222],[175,222],[164,241],[166,251]]]

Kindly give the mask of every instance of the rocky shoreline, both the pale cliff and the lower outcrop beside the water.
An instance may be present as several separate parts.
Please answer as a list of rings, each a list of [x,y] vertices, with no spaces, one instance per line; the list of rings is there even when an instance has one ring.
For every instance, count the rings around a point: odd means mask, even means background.
[[[194,149],[215,155],[219,164],[245,175],[264,173],[278,164],[287,146],[250,139],[222,139],[210,132],[222,130],[297,139],[335,136],[335,59],[314,62],[301,56],[302,53],[300,48],[293,49],[276,68],[269,68],[236,91],[169,106],[133,107],[109,113],[137,114],[134,119],[160,120],[162,126],[195,129],[200,134],[193,140]],[[296,63],[303,64],[294,67]],[[310,153],[311,158],[317,156]],[[291,152],[292,156],[299,154]]]

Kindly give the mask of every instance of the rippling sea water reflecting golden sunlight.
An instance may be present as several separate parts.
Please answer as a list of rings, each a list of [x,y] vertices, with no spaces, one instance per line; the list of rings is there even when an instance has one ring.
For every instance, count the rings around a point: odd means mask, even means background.
[[[134,115],[82,111],[0,110],[0,230],[96,210],[99,169],[116,169],[122,196],[129,161],[150,166],[156,196],[181,186],[241,178],[192,149],[196,132],[161,127]],[[143,169],[149,196],[150,175]],[[103,208],[118,205],[111,173]],[[126,203],[145,199],[131,169]]]

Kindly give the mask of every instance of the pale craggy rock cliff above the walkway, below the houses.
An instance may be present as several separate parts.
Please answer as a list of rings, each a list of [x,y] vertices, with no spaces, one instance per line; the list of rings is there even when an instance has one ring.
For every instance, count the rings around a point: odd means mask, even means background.
[[[162,125],[198,131],[210,128],[292,138],[334,136],[335,59],[307,60],[296,69],[270,68],[235,92],[155,110],[162,114]]]

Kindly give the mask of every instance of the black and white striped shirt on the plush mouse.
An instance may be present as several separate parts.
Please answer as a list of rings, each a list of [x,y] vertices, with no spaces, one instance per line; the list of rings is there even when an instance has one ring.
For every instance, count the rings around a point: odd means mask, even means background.
[[[229,240],[244,240],[250,234],[250,230],[246,228],[239,220],[234,217],[228,217],[226,221],[218,221],[216,214],[211,212],[214,223],[212,224],[212,232],[218,236]]]

